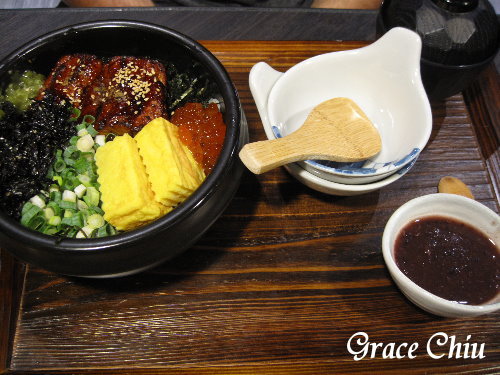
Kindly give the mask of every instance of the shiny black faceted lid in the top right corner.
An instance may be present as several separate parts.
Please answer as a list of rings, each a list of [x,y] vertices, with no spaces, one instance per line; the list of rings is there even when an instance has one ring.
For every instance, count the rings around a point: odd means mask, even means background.
[[[490,59],[500,45],[496,13],[486,0],[385,0],[384,31],[401,26],[422,38],[422,58],[444,65]]]

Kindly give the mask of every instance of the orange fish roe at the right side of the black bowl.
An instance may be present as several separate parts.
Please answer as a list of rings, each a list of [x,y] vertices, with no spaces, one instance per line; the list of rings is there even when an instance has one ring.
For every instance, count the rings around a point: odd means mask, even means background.
[[[175,110],[170,120],[179,126],[182,142],[208,175],[219,157],[226,135],[226,125],[217,104],[203,107],[201,103],[186,103]]]

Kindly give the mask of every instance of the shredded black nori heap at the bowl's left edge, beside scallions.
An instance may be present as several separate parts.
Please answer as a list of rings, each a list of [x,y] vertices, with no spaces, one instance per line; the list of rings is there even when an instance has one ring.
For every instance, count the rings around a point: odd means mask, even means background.
[[[1,102],[0,119],[0,207],[19,219],[23,204],[51,181],[47,171],[55,152],[75,135],[70,121],[71,106],[47,95],[24,112]]]

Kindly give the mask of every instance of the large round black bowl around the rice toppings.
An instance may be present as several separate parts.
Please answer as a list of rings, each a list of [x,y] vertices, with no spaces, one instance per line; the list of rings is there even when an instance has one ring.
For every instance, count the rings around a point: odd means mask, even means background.
[[[68,53],[147,56],[176,66],[201,63],[220,99],[227,126],[223,149],[211,174],[184,203],[142,228],[100,239],[67,239],[21,226],[0,212],[0,247],[52,272],[114,277],[154,267],[193,245],[222,214],[239,186],[238,152],[248,141],[238,93],[221,63],[196,41],[165,27],[129,21],[91,22],[36,38],[0,63],[0,84],[10,70],[48,74]]]

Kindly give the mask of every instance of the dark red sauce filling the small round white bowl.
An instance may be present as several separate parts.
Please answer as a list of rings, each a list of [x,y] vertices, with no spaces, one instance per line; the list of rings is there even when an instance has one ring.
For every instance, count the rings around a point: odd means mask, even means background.
[[[399,233],[394,257],[408,278],[447,300],[479,305],[498,293],[499,249],[460,221],[440,216],[415,220]]]

